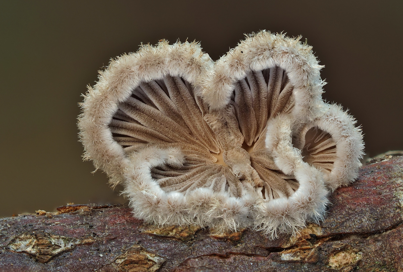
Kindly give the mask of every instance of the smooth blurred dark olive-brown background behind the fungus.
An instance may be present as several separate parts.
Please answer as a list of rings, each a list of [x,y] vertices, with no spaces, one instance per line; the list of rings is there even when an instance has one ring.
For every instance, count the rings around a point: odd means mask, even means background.
[[[402,3],[0,2],[0,216],[126,201],[81,160],[77,103],[110,58],[159,39],[201,41],[217,60],[243,33],[302,35],[326,65],[324,99],[362,124],[367,154],[403,149]]]

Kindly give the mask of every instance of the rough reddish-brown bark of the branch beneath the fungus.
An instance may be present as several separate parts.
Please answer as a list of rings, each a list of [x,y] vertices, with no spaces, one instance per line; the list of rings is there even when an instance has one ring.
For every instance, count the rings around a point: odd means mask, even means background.
[[[403,157],[371,162],[296,237],[217,237],[144,225],[124,205],[68,205],[1,218],[0,271],[403,271]]]

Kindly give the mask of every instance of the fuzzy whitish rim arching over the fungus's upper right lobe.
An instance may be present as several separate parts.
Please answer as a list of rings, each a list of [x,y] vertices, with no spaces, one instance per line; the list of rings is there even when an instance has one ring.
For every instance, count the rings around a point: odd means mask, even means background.
[[[313,120],[315,107],[321,101],[324,81],[320,69],[324,66],[312,52],[312,47],[285,34],[260,31],[251,34],[220,58],[202,84],[203,99],[212,109],[229,104],[235,83],[251,72],[278,66],[287,72],[294,86],[295,107],[291,114],[301,122]]]

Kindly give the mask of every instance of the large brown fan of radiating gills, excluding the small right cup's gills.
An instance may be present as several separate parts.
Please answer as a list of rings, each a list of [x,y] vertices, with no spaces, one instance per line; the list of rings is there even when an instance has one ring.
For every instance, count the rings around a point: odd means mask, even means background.
[[[167,75],[141,82],[118,104],[109,127],[126,152],[150,144],[181,149],[183,165],[150,169],[166,192],[204,187],[241,197],[249,183],[264,199],[289,197],[298,182],[282,173],[265,151],[264,130],[270,117],[292,109],[292,92],[287,73],[279,67],[250,72],[235,85],[223,117],[209,110],[189,82]]]

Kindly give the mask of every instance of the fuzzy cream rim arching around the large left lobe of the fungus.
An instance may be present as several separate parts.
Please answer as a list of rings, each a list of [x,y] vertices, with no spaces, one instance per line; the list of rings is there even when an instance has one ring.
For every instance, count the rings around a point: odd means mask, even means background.
[[[79,116],[80,138],[84,145],[84,159],[92,160],[97,169],[104,170],[110,183],[116,185],[129,161],[127,154],[108,128],[118,103],[125,101],[141,82],[160,79],[166,75],[181,76],[191,84],[212,68],[213,62],[202,52],[198,43],[169,45],[161,41],[157,46],[145,45],[136,53],[125,54],[101,71],[97,84],[88,88],[83,113]]]

